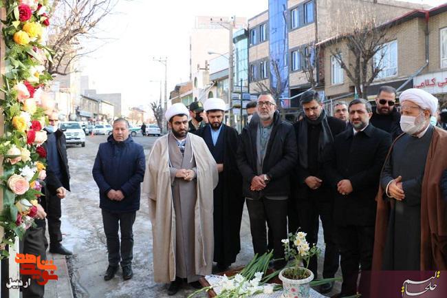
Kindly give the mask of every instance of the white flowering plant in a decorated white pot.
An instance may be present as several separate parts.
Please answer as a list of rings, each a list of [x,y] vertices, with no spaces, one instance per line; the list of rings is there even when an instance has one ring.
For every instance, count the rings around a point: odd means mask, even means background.
[[[279,273],[279,279],[283,281],[285,298],[308,298],[310,282],[314,279],[314,273],[309,270],[309,259],[318,255],[320,249],[309,246],[306,241],[306,233],[289,233],[287,239],[281,240],[284,245],[285,258],[292,259],[292,267],[287,267]],[[301,264],[305,264],[303,267]]]

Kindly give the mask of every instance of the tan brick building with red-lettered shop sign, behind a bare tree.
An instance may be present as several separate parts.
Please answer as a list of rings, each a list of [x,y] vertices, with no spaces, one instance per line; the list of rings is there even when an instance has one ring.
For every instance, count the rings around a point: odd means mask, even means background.
[[[430,10],[413,10],[386,26],[386,43],[377,57],[382,70],[367,89],[367,97],[375,98],[378,89],[390,85],[398,94],[411,87],[422,88],[439,99],[447,99],[447,4]],[[350,100],[356,90],[342,70],[334,53],[354,65],[355,58],[345,39],[329,39],[319,44],[324,52],[325,96],[329,100]]]

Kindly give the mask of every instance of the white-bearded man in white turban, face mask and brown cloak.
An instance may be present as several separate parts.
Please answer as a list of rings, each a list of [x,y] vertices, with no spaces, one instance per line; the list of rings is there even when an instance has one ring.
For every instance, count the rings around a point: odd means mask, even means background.
[[[447,205],[439,182],[447,169],[447,132],[430,125],[435,96],[407,89],[400,104],[405,134],[380,178],[373,270],[446,270]]]

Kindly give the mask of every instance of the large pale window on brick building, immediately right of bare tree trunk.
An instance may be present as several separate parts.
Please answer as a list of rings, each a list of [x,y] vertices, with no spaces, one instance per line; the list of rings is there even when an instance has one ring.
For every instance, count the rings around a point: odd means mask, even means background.
[[[388,78],[397,75],[397,41],[385,43],[374,56],[374,66],[382,70],[376,78]]]

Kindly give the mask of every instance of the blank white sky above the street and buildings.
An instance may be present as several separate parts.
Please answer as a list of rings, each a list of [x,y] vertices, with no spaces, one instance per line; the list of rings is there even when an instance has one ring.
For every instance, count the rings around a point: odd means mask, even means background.
[[[431,6],[446,2],[410,1]],[[100,25],[113,41],[83,61],[83,75],[98,93],[122,93],[124,105],[149,105],[160,97],[160,83],[149,81],[164,80],[164,66],[152,61],[154,56],[168,58],[168,94],[176,83],[188,80],[195,16],[249,19],[267,8],[268,0],[120,0],[117,13]]]

